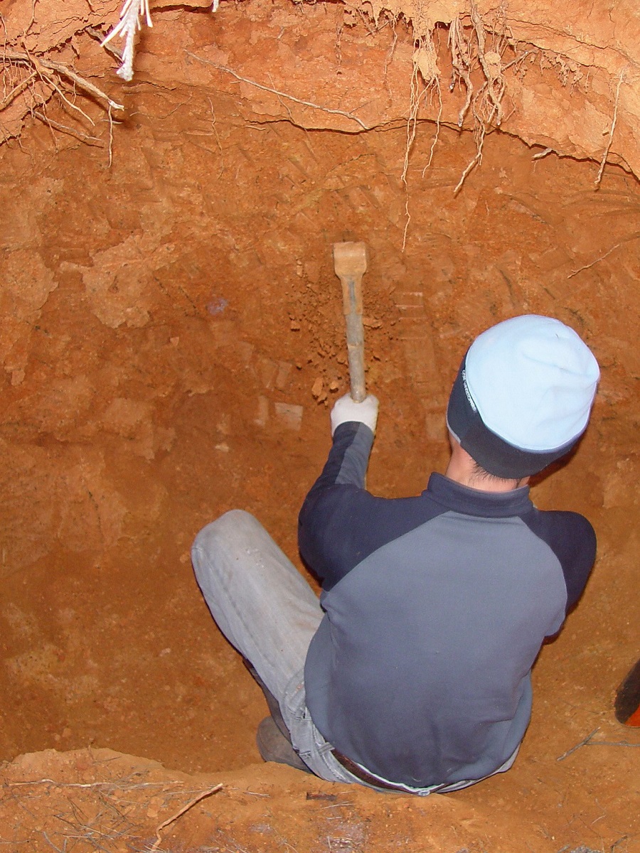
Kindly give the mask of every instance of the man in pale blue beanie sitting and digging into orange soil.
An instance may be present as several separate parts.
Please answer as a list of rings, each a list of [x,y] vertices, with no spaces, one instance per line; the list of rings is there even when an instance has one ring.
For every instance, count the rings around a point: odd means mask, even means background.
[[[202,592],[270,703],[265,759],[422,795],[509,769],[531,716],[532,664],[596,553],[589,522],[539,512],[527,483],[585,431],[598,377],[561,322],[498,323],[454,383],[445,475],[399,499],[364,488],[377,400],[340,398],[329,460],[300,511],[319,602],[251,516],[201,531]]]

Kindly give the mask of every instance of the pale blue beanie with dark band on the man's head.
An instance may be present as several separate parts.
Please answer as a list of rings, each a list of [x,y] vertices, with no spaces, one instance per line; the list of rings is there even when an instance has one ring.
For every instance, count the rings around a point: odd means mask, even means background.
[[[537,473],[585,431],[600,371],[572,328],[538,315],[480,334],[454,383],[447,424],[497,477]]]

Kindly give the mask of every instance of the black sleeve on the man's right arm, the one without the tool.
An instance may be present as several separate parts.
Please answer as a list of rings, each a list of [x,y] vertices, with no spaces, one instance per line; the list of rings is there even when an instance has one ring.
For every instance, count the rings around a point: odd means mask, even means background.
[[[596,533],[578,513],[534,509],[522,520],[560,560],[567,586],[568,612],[582,595],[596,560]]]

